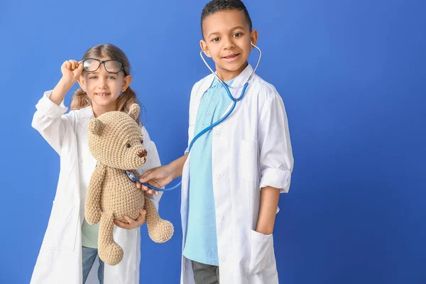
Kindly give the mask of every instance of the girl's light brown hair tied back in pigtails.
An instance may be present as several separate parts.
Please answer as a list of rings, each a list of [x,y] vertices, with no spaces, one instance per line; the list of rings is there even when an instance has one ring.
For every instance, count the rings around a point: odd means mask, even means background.
[[[124,54],[123,50],[117,48],[115,45],[102,44],[89,48],[89,50],[84,53],[82,60],[88,58],[108,58],[111,60],[117,60],[123,63],[123,69],[125,74],[130,75],[129,59],[127,59],[127,56]],[[128,113],[130,106],[135,102],[141,105],[138,102],[138,99],[136,99],[136,93],[133,92],[133,89],[128,87],[126,91],[123,92],[123,94],[121,94],[121,96],[116,101],[117,110]],[[82,109],[84,107],[88,107],[91,104],[92,102],[90,101],[89,96],[87,96],[87,93],[84,92],[82,89],[76,89],[75,92],[72,94],[71,109]],[[139,119],[138,124],[141,124],[141,121]]]

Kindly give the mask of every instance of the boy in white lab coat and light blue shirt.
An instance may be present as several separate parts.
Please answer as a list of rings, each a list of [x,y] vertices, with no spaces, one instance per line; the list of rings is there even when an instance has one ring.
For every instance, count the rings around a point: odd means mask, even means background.
[[[202,11],[204,54],[239,97],[253,71],[247,62],[258,33],[238,0],[210,1]],[[231,106],[214,75],[192,88],[189,141]],[[141,176],[163,187],[182,175],[181,283],[278,283],[273,224],[288,192],[293,154],[283,100],[253,75],[232,114],[185,155]],[[143,190],[148,188],[143,186]]]

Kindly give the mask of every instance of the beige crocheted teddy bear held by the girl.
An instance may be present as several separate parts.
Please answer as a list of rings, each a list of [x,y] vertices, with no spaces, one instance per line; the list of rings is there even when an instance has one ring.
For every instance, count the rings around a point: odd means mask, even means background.
[[[139,210],[146,210],[146,224],[150,238],[163,243],[173,236],[173,224],[158,215],[154,205],[142,190],[136,188],[125,171],[141,168],[149,153],[143,147],[141,128],[136,123],[138,104],[129,114],[109,111],[89,122],[89,150],[97,159],[97,167],[89,182],[85,203],[85,217],[89,224],[99,224],[98,253],[111,266],[123,259],[125,251],[113,236],[114,219],[127,222],[124,216],[136,219]]]

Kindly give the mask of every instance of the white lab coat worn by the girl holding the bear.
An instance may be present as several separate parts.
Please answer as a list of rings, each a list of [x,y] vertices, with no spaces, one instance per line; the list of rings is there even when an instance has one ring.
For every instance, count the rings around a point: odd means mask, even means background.
[[[84,200],[87,188],[80,188],[79,161],[82,163],[82,149],[77,142],[87,141],[87,127],[92,119],[92,107],[86,107],[65,114],[67,108],[51,102],[51,92],[45,92],[36,105],[33,128],[37,129],[50,146],[60,155],[58,188],[53,200],[48,228],[35,263],[31,284],[80,284],[82,283],[82,231],[84,221]],[[157,148],[151,141],[145,127],[142,127],[144,144],[148,151],[146,163],[138,171],[160,165]],[[97,161],[91,157],[90,175]],[[161,193],[160,193],[161,195]],[[153,196],[158,209],[160,195]],[[124,258],[116,266],[105,264],[105,284],[139,283],[141,261],[140,229],[126,230],[114,226],[114,239],[124,249]],[[87,278],[87,284],[99,283],[96,261]]]

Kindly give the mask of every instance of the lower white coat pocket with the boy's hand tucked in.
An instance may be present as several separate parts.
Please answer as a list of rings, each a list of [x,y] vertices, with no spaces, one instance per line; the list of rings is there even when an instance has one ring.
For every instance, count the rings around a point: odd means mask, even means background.
[[[273,236],[251,230],[249,275],[259,273],[273,262]]]

